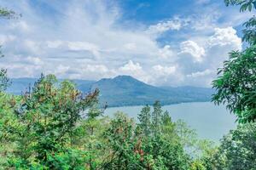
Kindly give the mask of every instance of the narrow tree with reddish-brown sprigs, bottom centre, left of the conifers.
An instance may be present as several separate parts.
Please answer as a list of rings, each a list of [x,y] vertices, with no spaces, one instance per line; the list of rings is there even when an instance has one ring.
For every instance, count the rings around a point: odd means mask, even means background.
[[[102,169],[143,169],[134,136],[135,124],[123,113],[116,113],[105,133],[109,155],[102,162]]]

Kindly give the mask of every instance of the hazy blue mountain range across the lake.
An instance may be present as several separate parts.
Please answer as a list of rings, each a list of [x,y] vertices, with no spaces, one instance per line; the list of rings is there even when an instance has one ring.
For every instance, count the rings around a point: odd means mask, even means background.
[[[36,81],[34,78],[13,79],[8,92],[20,94],[29,84]],[[209,101],[213,90],[211,88],[195,87],[154,87],[130,76],[103,78],[97,82],[86,80],[73,80],[79,90],[86,93],[95,88],[100,89],[100,103],[108,106],[125,105],[152,105],[160,100],[162,105],[183,102]]]

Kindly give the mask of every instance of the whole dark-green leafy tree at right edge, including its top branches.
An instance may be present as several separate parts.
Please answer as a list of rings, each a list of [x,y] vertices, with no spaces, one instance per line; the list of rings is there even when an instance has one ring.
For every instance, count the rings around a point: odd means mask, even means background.
[[[256,8],[255,0],[226,0],[226,5],[241,5],[241,12]],[[218,78],[212,82],[216,93],[212,97],[215,104],[225,104],[236,114],[241,123],[256,121],[256,19],[253,16],[244,26],[243,41],[249,47],[244,51],[233,51],[224,67],[218,69]]]

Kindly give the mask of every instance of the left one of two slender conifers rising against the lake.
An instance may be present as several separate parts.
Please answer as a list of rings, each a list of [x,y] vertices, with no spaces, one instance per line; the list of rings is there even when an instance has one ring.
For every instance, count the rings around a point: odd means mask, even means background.
[[[146,105],[143,110],[138,114],[138,120],[140,121],[139,126],[143,129],[143,133],[148,136],[150,135],[151,129],[151,113],[150,106]]]

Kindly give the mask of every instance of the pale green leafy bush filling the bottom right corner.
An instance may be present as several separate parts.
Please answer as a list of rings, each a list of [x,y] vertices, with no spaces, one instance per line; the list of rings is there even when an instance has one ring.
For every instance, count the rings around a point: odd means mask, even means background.
[[[251,170],[256,167],[256,125],[246,123],[224,136],[211,159],[212,169]],[[209,166],[209,165],[208,165]]]

